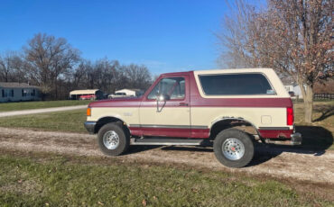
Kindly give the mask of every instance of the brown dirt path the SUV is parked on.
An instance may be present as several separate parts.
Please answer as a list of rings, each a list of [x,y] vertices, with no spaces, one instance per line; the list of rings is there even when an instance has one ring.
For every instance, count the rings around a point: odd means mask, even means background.
[[[0,148],[47,151],[79,156],[104,156],[97,148],[96,137],[86,134],[0,128]],[[121,160],[143,160],[155,163],[205,167],[250,175],[272,175],[283,178],[334,184],[334,151],[315,152],[293,148],[261,147],[251,163],[242,169],[222,166],[212,148],[132,147]]]

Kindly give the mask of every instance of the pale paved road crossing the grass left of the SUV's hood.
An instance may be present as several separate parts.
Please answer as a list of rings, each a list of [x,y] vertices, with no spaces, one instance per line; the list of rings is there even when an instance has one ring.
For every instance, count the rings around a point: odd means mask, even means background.
[[[30,110],[21,110],[14,112],[13,111],[0,112],[0,117],[27,115],[27,114],[42,113],[42,112],[62,112],[62,111],[70,111],[70,110],[85,109],[85,108],[87,108],[87,105],[63,106],[63,107],[53,107],[45,109],[30,109]]]

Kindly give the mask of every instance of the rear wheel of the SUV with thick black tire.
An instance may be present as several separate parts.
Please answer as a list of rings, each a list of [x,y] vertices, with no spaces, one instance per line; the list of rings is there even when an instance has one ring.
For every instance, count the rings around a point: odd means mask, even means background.
[[[223,153],[223,144],[226,148],[225,154]],[[229,148],[229,146],[231,147]],[[244,153],[240,152],[242,148],[244,148]],[[218,161],[229,167],[239,168],[246,166],[254,156],[252,139],[244,131],[237,129],[220,131],[214,140],[213,150]]]

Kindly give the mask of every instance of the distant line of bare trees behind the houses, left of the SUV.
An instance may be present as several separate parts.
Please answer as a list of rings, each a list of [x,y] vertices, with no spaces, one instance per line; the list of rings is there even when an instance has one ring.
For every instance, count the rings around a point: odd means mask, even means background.
[[[67,40],[38,33],[20,51],[0,55],[0,82],[21,82],[41,87],[46,99],[65,99],[74,89],[146,89],[152,75],[144,65],[121,65],[101,58],[91,62],[80,57]]]

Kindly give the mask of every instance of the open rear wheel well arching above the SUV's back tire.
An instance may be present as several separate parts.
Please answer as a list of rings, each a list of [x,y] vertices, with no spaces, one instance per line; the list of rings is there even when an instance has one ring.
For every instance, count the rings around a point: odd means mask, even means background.
[[[237,130],[243,130],[247,134],[250,135],[258,135],[258,131],[256,130],[255,126],[246,120],[241,119],[226,119],[215,122],[210,130],[210,137],[209,139],[215,139],[218,133],[221,130],[227,130],[230,128],[236,128]]]

